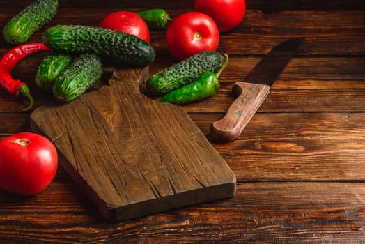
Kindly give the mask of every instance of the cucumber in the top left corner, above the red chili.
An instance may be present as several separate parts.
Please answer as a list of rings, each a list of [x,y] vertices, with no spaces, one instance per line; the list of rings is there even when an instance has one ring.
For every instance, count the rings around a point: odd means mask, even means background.
[[[31,35],[56,15],[57,0],[36,0],[17,13],[3,28],[3,37],[11,45],[26,43]]]

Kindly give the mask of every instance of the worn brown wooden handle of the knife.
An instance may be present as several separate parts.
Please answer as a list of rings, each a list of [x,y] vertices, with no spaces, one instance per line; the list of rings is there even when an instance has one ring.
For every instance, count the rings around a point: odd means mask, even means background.
[[[236,82],[232,89],[238,98],[229,107],[223,119],[210,125],[212,139],[219,142],[232,142],[241,135],[242,130],[269,94],[270,86]]]

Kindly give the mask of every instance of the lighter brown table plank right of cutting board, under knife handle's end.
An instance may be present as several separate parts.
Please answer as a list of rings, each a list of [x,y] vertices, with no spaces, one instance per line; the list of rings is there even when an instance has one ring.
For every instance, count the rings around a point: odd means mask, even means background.
[[[208,138],[220,118],[190,116]],[[364,112],[258,113],[235,142],[212,144],[240,180],[365,180]]]

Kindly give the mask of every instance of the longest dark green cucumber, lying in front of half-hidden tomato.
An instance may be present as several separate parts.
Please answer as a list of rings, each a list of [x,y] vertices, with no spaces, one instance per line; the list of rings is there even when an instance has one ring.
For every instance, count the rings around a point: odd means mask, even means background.
[[[134,35],[95,26],[57,25],[47,29],[42,40],[50,49],[106,56],[126,66],[146,66],[155,59],[150,43]]]

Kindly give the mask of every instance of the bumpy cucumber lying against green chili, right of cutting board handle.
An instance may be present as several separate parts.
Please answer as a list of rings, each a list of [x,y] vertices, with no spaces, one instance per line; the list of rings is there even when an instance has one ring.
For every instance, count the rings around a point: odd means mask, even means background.
[[[223,59],[224,56],[219,52],[199,52],[155,73],[147,80],[146,87],[156,95],[169,93],[189,84],[206,71],[217,73],[223,64]]]

